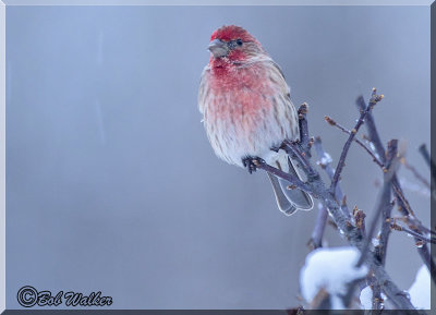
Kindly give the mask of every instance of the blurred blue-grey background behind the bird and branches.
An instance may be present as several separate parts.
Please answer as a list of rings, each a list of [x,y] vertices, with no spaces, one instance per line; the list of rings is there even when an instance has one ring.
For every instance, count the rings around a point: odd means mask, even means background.
[[[335,165],[373,86],[383,141],[428,171],[429,8],[8,7],[7,303],[17,290],[102,291],[113,308],[283,308],[316,217],[284,217],[267,177],[218,160],[197,110],[213,31],[247,28],[281,65]],[[371,217],[380,171],[351,148],[342,187]],[[407,170],[424,222],[429,201]],[[419,189],[420,190],[420,189]],[[396,213],[398,214],[398,213]],[[327,227],[329,245],[344,245]],[[393,232],[402,289],[422,265]]]

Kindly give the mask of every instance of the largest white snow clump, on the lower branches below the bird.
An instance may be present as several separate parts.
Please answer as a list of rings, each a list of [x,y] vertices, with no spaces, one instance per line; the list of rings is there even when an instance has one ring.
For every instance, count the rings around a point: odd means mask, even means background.
[[[300,288],[303,298],[311,302],[320,289],[331,296],[334,310],[346,308],[341,295],[347,294],[348,283],[363,278],[366,266],[355,268],[361,252],[355,247],[317,249],[311,252],[300,271]]]

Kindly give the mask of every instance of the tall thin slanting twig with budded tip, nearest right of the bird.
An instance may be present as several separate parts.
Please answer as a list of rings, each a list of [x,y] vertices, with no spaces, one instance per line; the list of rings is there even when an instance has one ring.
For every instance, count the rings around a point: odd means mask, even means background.
[[[336,185],[338,184],[339,177],[340,177],[340,174],[342,172],[342,169],[343,169],[343,167],[346,165],[346,158],[347,158],[348,150],[350,149],[351,143],[353,142],[355,134],[358,133],[359,129],[361,128],[361,125],[365,121],[365,118],[370,113],[370,111],[374,108],[374,106],[378,101],[380,101],[384,98],[383,95],[377,95],[376,93],[377,93],[377,90],[375,88],[373,88],[373,94],[372,94],[372,97],[370,99],[370,105],[364,110],[361,111],[361,117],[359,118],[359,120],[358,120],[356,124],[354,125],[354,128],[351,130],[351,134],[348,137],[346,144],[343,145],[343,149],[342,149],[341,156],[339,158],[338,166],[336,167],[335,177],[331,180],[330,190],[332,192],[335,192]]]

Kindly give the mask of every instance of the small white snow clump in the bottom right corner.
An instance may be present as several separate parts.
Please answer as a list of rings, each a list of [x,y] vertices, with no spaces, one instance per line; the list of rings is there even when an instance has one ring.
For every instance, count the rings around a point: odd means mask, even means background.
[[[423,265],[417,270],[415,281],[409,289],[410,302],[412,302],[413,306],[422,310],[431,310],[429,287],[429,272],[427,267]]]

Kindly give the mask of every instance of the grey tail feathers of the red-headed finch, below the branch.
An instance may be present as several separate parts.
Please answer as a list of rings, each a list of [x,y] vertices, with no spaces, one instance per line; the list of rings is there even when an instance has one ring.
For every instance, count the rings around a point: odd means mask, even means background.
[[[276,161],[276,167],[284,172],[298,177],[299,179],[302,179],[288,155],[282,150],[279,152],[279,158]],[[277,205],[280,211],[287,216],[290,216],[296,210],[312,209],[313,199],[306,192],[303,192],[299,189],[290,190],[290,182],[277,178],[274,174],[268,173],[268,177],[271,181],[274,194],[276,195]]]

